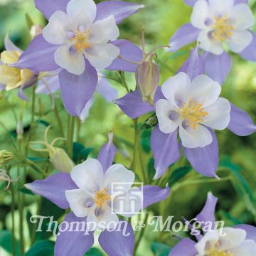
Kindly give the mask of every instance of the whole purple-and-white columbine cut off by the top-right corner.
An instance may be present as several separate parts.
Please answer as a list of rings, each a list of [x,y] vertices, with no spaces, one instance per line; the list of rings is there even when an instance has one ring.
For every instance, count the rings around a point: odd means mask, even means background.
[[[185,0],[193,6],[191,23],[176,31],[170,41],[170,50],[176,51],[193,41],[205,50],[206,73],[220,85],[231,68],[231,59],[223,45],[242,58],[256,61],[256,36],[250,28],[255,18],[247,0]]]

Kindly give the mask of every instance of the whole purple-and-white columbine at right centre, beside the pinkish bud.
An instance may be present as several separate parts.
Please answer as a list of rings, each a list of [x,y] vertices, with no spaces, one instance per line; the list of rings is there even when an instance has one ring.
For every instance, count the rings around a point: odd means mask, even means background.
[[[178,70],[178,75],[156,90],[154,106],[142,102],[138,91],[114,100],[132,119],[156,110],[159,124],[151,133],[151,149],[156,169],[154,178],[163,176],[166,169],[178,161],[181,146],[195,171],[204,176],[216,177],[219,163],[218,140],[213,129],[228,127],[239,136],[247,136],[256,131],[250,116],[228,100],[219,98],[220,85],[204,74],[205,61],[198,54],[197,47],[191,50],[191,56]],[[195,87],[191,87],[191,81]],[[205,107],[203,104],[206,104]],[[206,122],[205,126],[198,126],[203,122]],[[196,130],[198,127],[200,128]],[[178,134],[181,144],[178,143]]]

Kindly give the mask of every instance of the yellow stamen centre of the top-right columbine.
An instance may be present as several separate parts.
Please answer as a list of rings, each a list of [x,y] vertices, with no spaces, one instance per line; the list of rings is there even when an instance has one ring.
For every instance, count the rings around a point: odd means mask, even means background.
[[[215,16],[214,20],[213,31],[211,32],[214,41],[220,43],[233,36],[234,27],[230,24],[227,15]]]

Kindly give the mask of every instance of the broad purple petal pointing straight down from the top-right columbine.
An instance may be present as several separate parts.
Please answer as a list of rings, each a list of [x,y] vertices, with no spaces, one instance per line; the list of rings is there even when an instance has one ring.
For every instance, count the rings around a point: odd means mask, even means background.
[[[230,55],[226,52],[223,52],[221,55],[206,53],[204,58],[206,61],[207,75],[222,85],[231,70],[232,63]]]

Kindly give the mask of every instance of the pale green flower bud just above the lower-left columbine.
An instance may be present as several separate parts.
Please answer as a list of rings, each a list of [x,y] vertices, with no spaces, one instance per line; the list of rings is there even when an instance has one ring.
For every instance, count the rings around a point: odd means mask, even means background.
[[[70,173],[74,168],[75,164],[69,158],[68,154],[64,149],[50,146],[48,147],[50,161],[55,167],[55,169],[59,172]]]

